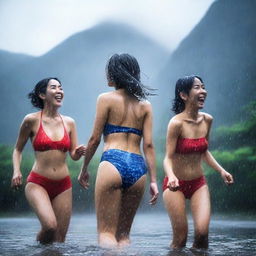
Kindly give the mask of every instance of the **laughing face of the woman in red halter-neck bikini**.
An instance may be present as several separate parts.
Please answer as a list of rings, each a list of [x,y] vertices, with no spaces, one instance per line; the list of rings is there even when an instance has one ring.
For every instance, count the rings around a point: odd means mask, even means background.
[[[64,98],[64,91],[62,89],[61,84],[57,80],[51,79],[48,82],[45,95],[42,94],[40,95],[40,97],[44,100],[44,103],[47,105],[61,107]]]

